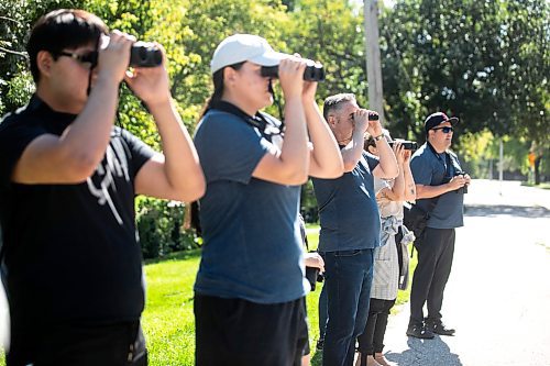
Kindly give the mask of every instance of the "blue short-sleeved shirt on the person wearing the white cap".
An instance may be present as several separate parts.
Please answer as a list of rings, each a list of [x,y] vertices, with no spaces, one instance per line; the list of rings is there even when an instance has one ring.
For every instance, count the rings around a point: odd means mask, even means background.
[[[207,180],[195,291],[256,303],[304,297],[309,284],[297,218],[300,188],[252,177],[273,148],[271,136],[235,114],[210,110],[195,145]]]

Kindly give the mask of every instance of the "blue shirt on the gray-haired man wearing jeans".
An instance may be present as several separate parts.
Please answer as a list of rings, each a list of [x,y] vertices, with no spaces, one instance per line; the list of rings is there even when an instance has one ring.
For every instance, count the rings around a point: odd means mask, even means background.
[[[377,165],[374,155],[363,152],[355,168],[340,178],[312,178],[321,222],[319,251],[380,246],[380,212],[372,174]]]

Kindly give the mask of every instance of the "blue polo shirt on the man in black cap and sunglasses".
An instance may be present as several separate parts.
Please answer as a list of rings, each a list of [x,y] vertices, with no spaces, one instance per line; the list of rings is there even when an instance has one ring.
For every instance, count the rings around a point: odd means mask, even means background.
[[[449,154],[449,159],[447,159],[446,154]],[[449,168],[447,167],[448,162],[450,163]],[[440,186],[449,181],[457,173],[462,171],[462,168],[454,153],[438,154],[426,143],[410,158],[410,170],[416,184]],[[417,200],[417,204],[426,209],[429,206],[429,200]],[[428,220],[428,228],[453,229],[463,226],[463,208],[464,193],[462,190],[450,191],[439,196],[438,202]]]

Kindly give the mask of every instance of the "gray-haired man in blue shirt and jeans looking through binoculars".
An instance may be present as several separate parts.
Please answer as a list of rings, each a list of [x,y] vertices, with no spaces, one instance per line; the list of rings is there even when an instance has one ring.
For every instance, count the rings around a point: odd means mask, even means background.
[[[323,292],[328,300],[322,365],[351,366],[355,339],[365,329],[369,313],[373,251],[380,246],[374,177],[394,178],[398,167],[377,113],[360,108],[354,95],[328,97],[323,114],[340,145],[344,175],[312,179],[321,222],[319,252],[326,265]],[[380,160],[363,151],[365,133],[374,137]]]

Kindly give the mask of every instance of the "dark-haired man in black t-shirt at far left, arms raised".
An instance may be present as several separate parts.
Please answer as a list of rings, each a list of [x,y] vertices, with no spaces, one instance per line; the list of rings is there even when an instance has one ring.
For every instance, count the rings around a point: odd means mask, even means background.
[[[135,40],[114,31],[99,47],[107,32],[80,10],[41,18],[28,44],[36,92],[0,124],[9,366],[146,365],[134,197],[205,190],[164,60],[127,73]],[[151,111],[164,155],[113,127],[122,80]]]

